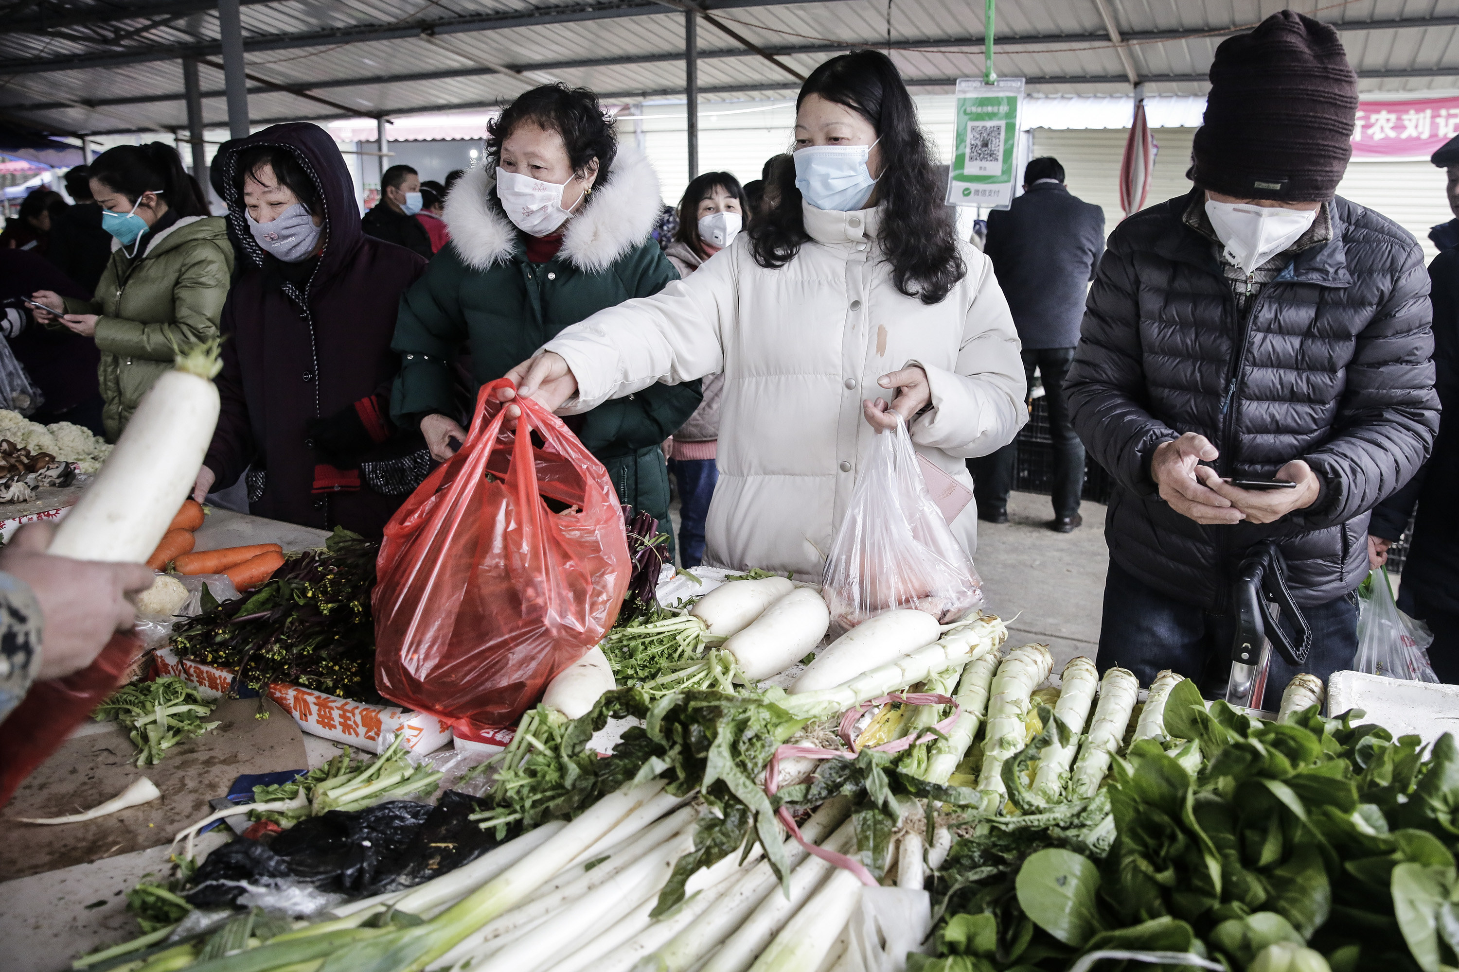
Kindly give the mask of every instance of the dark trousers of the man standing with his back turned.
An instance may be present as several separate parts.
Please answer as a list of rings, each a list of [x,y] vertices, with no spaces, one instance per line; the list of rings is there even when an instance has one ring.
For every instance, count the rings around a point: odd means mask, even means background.
[[[1032,386],[1033,369],[1039,369],[1045,401],[1049,404],[1049,439],[1053,440],[1053,514],[1058,517],[1078,513],[1080,494],[1084,491],[1084,443],[1069,424],[1069,407],[1064,398],[1064,379],[1072,363],[1074,348],[1037,348],[1023,353],[1024,377]],[[1014,485],[1017,459],[1015,439],[998,452],[967,460],[967,471],[973,475],[973,497],[980,513],[1001,513],[1008,507],[1008,491]]]

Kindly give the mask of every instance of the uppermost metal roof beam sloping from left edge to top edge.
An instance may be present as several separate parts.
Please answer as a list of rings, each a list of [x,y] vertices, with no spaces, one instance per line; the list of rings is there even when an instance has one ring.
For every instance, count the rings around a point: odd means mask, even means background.
[[[845,3],[849,0],[715,0],[705,9],[711,12],[738,10],[746,7],[785,7],[801,3]],[[556,23],[581,23],[587,20],[608,20],[619,17],[662,16],[674,10],[658,0],[600,0],[598,3],[575,3],[570,6],[538,7],[527,12],[480,13],[444,20],[416,20],[410,23],[360,23],[299,34],[264,34],[244,38],[244,51],[289,51],[334,44],[359,44],[365,41],[401,41],[420,35],[474,34],[480,31],[508,31]],[[38,74],[42,71],[71,71],[86,67],[121,67],[147,61],[171,61],[184,57],[217,57],[222,54],[217,41],[201,44],[165,44],[137,47],[133,51],[98,51],[88,54],[64,54],[48,58],[13,58],[0,61],[0,74]]]

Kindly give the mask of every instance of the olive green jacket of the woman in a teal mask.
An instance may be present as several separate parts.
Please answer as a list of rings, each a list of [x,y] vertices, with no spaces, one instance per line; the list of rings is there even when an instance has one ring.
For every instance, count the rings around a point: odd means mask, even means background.
[[[177,350],[217,338],[233,273],[222,217],[185,216],[158,233],[137,259],[111,252],[95,300],[66,299],[67,313],[98,313],[96,375],[107,439],[117,440],[137,402],[172,367]]]

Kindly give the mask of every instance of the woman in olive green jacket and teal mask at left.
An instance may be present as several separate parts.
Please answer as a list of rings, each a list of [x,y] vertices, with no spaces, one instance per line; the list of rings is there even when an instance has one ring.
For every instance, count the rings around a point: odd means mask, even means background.
[[[92,195],[112,235],[111,261],[93,300],[35,300],[36,312],[95,338],[107,439],[115,442],[137,402],[179,350],[214,340],[233,270],[226,223],[207,214],[177,150],[160,141],[118,146],[90,168]]]

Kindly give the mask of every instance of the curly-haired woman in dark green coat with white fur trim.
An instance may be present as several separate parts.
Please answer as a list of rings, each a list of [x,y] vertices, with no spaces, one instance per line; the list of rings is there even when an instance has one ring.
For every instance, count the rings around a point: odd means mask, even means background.
[[[391,411],[436,459],[465,440],[476,389],[568,325],[674,280],[649,239],[658,176],[585,89],[546,85],[487,125],[486,160],[446,198],[451,243],[400,303]],[[470,375],[470,401],[457,395]],[[699,405],[699,382],[654,385],[569,426],[608,469],[619,500],[668,523],[665,439]]]

